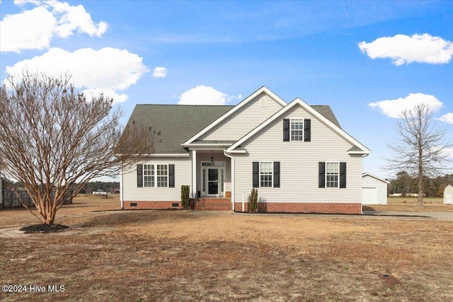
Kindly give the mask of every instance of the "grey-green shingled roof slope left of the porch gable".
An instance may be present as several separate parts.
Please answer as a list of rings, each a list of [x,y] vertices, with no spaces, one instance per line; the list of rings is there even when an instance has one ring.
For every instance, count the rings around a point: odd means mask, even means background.
[[[135,122],[138,127],[151,127],[160,132],[160,135],[155,136],[154,154],[188,153],[181,142],[200,132],[231,108],[234,106],[139,104],[135,106],[127,126]]]

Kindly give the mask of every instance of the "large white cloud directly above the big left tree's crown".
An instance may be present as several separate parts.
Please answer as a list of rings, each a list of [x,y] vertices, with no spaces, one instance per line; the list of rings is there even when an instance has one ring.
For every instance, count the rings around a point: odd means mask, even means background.
[[[77,88],[96,88],[109,92],[115,102],[124,102],[127,95],[117,94],[135,83],[149,71],[142,62],[142,57],[127,50],[105,47],[101,50],[83,48],[67,52],[60,48],[51,48],[42,56],[27,59],[7,66],[10,76],[21,76],[24,70],[45,72],[50,76],[59,76],[66,72],[72,75],[71,83]]]

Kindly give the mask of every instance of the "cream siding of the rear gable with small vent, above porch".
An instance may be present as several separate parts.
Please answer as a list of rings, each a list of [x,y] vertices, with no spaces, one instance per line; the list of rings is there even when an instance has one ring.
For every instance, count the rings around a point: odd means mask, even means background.
[[[260,106],[260,98],[263,96],[267,98],[266,107]],[[260,93],[256,98],[248,101],[246,105],[234,112],[233,115],[203,134],[200,139],[236,141],[280,109],[282,109],[280,103],[277,103],[265,93]]]

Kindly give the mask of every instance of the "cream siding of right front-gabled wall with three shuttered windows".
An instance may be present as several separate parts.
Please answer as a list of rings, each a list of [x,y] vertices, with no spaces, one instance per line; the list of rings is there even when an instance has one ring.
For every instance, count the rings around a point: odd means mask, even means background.
[[[283,141],[285,118],[311,119],[311,141]],[[252,189],[253,161],[280,161],[280,188],[260,187],[261,202],[362,202],[362,157],[321,121],[296,106],[246,141],[246,155],[235,156],[235,202]],[[346,162],[346,188],[319,188],[319,162]]]

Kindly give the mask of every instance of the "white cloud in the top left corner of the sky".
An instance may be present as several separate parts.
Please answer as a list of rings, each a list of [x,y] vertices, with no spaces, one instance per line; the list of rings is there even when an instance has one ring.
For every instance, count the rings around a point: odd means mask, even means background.
[[[69,37],[74,32],[101,36],[107,23],[94,23],[84,6],[59,1],[14,1],[18,6],[33,4],[33,9],[6,15],[0,21],[0,51],[42,50],[50,47],[53,37]]]

